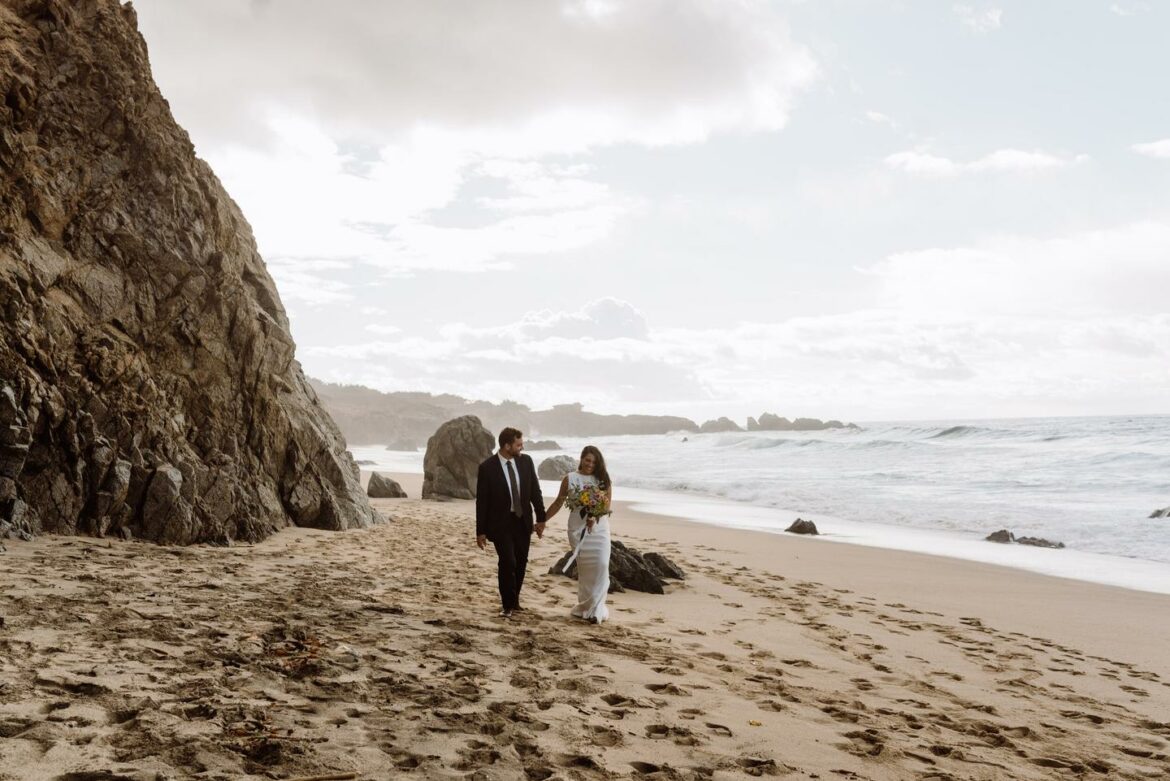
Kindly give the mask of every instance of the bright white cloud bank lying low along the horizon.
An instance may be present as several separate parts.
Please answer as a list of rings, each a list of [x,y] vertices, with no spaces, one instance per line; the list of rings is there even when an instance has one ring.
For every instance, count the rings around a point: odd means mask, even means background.
[[[1156,412],[1170,398],[1166,257],[1168,222],[1003,237],[875,263],[859,311],[665,329],[600,299],[304,360],[384,389],[694,419]]]

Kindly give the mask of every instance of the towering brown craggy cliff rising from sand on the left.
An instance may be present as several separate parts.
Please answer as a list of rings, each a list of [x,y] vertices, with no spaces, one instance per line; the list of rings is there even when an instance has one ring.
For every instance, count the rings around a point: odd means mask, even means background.
[[[163,542],[378,516],[132,6],[0,5],[0,523]]]

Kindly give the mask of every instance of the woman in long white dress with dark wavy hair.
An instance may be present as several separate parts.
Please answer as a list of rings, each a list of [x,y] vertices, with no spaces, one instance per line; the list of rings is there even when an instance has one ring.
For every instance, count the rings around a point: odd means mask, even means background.
[[[597,485],[606,495],[607,504],[613,504],[613,483],[605,469],[601,451],[592,444],[581,450],[580,463],[576,472],[565,475],[560,481],[560,492],[549,506],[548,517],[552,518],[565,503],[569,491],[579,491],[586,485]],[[572,615],[592,623],[601,623],[610,617],[605,606],[605,595],[610,592],[610,521],[608,516],[593,518],[585,516],[584,510],[569,516],[569,547],[577,548],[577,607]]]

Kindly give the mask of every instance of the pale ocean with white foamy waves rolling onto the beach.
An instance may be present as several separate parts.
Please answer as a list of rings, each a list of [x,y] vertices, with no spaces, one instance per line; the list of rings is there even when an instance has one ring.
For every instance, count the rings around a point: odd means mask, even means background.
[[[1170,593],[1170,415],[860,423],[860,430],[556,438],[605,454],[639,510]],[[359,452],[360,451],[360,452]],[[422,454],[356,448],[421,472]],[[1062,551],[986,542],[1007,528]]]

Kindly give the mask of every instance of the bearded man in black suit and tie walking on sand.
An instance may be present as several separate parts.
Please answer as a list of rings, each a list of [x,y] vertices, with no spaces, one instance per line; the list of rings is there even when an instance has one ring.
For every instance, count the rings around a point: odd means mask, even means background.
[[[500,558],[500,615],[511,617],[519,607],[519,589],[528,568],[532,532],[544,537],[544,497],[532,459],[523,454],[524,435],[514,428],[500,433],[500,450],[480,464],[475,490],[475,544],[488,540]],[[532,511],[536,524],[532,524]]]

